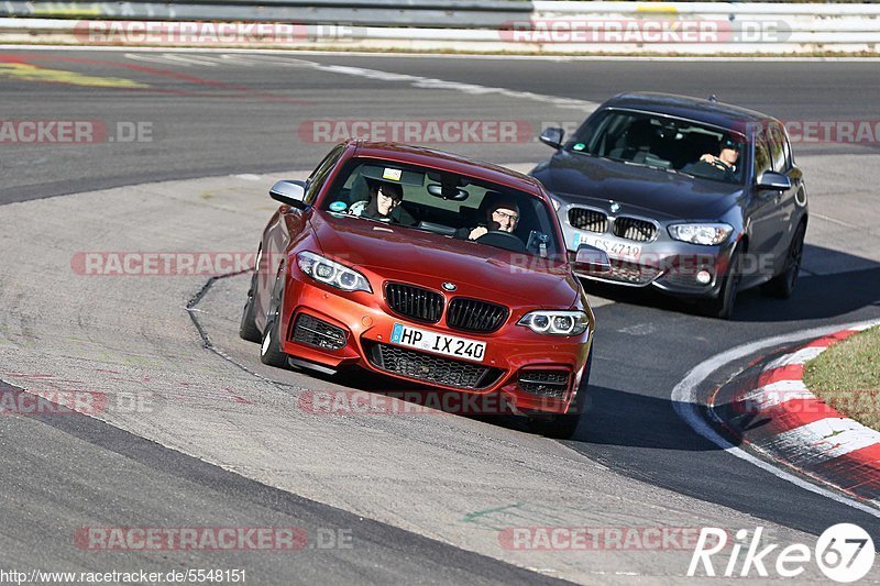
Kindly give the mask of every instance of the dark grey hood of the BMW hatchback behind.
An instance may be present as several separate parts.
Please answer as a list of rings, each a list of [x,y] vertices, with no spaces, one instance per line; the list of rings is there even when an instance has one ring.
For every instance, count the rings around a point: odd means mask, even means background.
[[[569,202],[583,198],[607,207],[614,200],[625,206],[624,212],[660,221],[718,218],[743,196],[743,186],[568,152],[558,153],[531,175]]]

